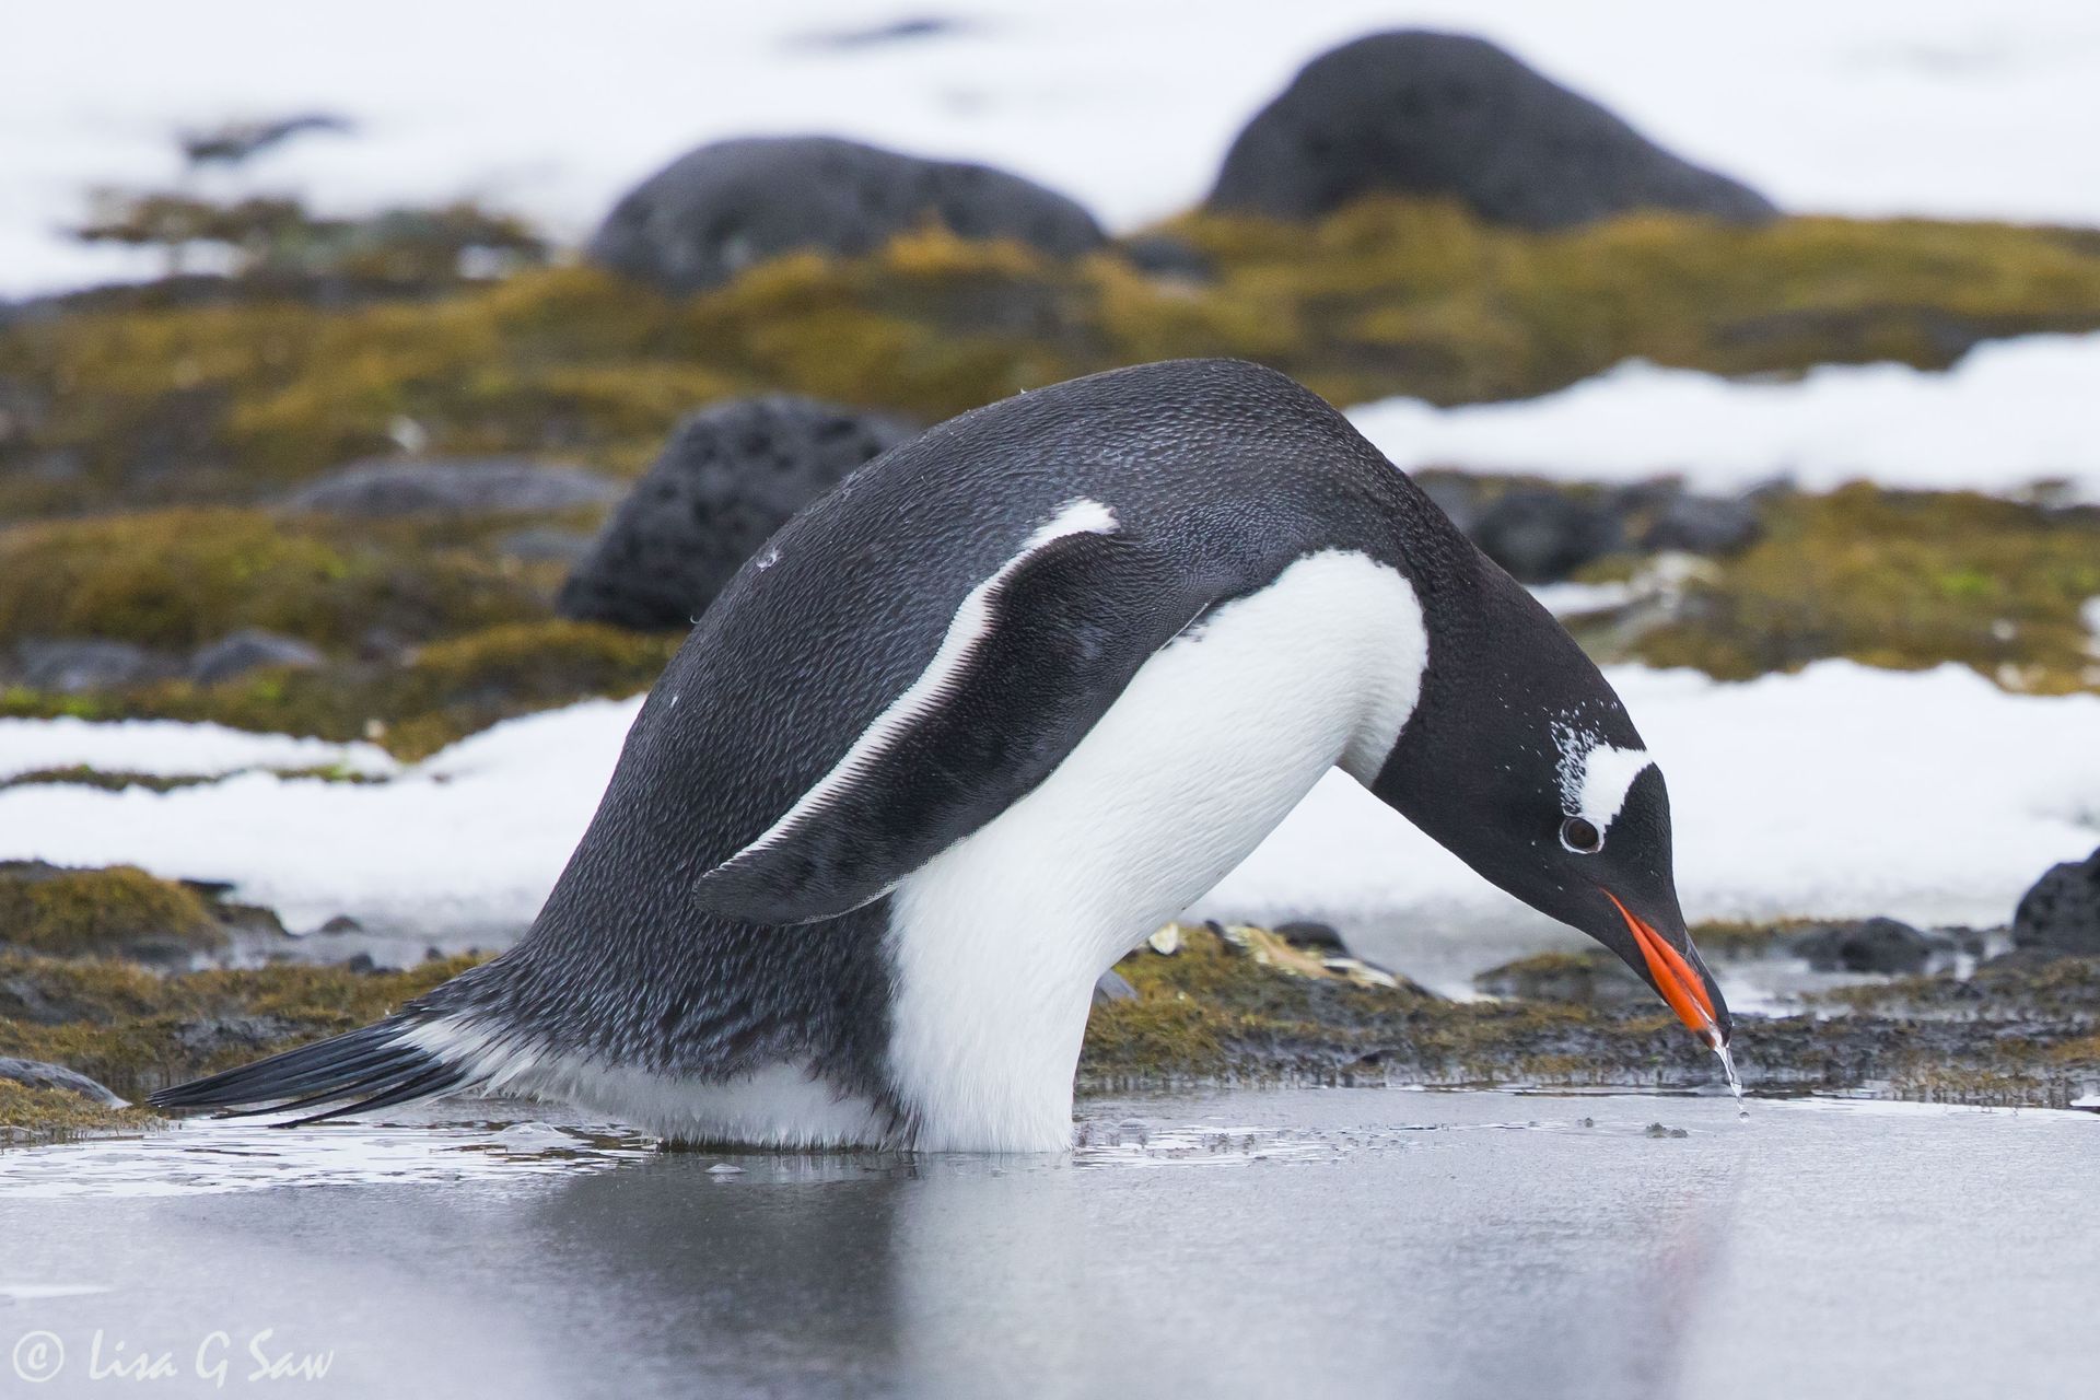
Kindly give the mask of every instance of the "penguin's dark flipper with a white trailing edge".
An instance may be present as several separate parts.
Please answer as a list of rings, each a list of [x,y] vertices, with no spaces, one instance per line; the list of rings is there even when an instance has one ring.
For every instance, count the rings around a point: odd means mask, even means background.
[[[1025,798],[1138,667],[1218,600],[1186,563],[1105,525],[1031,542],[979,584],[920,678],[769,831],[697,882],[752,924],[882,898]]]

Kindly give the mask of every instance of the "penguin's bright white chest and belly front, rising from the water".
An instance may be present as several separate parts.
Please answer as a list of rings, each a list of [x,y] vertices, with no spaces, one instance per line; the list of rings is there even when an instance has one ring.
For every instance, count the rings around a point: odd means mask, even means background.
[[[1327,768],[1376,775],[1426,651],[1403,575],[1306,556],[1155,653],[1042,785],[901,882],[888,1073],[918,1146],[1067,1146],[1094,980]]]

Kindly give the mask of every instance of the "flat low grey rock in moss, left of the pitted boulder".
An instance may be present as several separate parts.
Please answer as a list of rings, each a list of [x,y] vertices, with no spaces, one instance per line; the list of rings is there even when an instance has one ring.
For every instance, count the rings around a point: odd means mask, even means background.
[[[372,458],[319,476],[284,506],[349,516],[498,514],[605,506],[620,489],[575,466],[517,458]]]

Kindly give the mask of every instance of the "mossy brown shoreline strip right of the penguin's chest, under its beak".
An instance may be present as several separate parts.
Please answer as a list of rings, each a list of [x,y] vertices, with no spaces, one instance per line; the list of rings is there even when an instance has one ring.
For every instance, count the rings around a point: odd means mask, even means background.
[[[1090,1091],[1210,1081],[1623,1085],[1720,1083],[1714,1056],[1659,1003],[1441,1001],[1287,976],[1191,932],[1174,957],[1117,970],[1136,999],[1094,1010],[1079,1062]],[[2068,1104],[2100,1081],[2096,963],[1980,978],[1903,978],[1995,1018],[1888,1010],[1743,1016],[1735,1056],[1766,1091],[1877,1091],[1991,1104]],[[1869,989],[1877,991],[1877,989]],[[1833,993],[1840,997],[1844,993]]]

